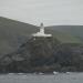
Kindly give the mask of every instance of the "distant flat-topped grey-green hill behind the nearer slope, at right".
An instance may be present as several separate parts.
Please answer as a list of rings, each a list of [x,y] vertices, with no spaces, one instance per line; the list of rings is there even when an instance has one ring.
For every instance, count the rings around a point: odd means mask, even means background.
[[[65,33],[66,38],[70,34],[73,37],[73,40],[77,39],[79,41],[83,42],[83,25],[52,25],[52,27],[46,27],[46,28],[53,31]]]

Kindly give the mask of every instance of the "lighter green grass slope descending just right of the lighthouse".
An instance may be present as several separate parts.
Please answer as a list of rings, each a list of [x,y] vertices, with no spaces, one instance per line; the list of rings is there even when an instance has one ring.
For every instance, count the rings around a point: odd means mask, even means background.
[[[62,43],[82,43],[81,39],[74,37],[71,33],[51,30],[51,28],[46,29],[46,30],[49,30],[48,32],[52,33],[54,35],[54,38],[60,40]]]

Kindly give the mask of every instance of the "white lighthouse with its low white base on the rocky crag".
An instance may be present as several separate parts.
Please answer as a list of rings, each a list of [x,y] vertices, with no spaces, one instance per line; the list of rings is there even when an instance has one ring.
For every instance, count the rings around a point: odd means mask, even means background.
[[[46,38],[46,37],[52,37],[52,34],[44,33],[44,25],[43,25],[43,23],[41,23],[40,31],[37,33],[33,33],[32,37],[44,37],[44,38]]]

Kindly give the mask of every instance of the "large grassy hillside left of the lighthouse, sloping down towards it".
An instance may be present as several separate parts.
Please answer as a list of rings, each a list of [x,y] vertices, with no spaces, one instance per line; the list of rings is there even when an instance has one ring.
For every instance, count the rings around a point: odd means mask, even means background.
[[[0,17],[0,53],[17,49],[37,27]]]

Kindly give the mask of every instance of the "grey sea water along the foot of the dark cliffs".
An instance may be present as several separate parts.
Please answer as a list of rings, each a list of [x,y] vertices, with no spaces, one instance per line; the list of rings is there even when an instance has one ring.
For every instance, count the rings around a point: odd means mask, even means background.
[[[83,83],[83,73],[9,73],[0,74],[0,83]]]

